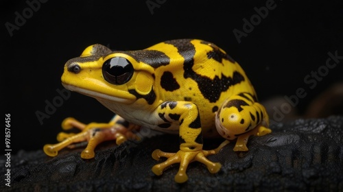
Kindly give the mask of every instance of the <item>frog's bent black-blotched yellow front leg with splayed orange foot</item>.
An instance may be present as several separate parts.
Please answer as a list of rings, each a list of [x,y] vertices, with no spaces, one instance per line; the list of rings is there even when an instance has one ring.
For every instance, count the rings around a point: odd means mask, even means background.
[[[180,150],[176,153],[166,153],[156,149],[152,153],[152,158],[155,160],[159,160],[161,157],[167,158],[164,163],[152,167],[152,171],[157,176],[160,176],[169,165],[180,163],[175,181],[179,183],[186,182],[188,180],[186,174],[187,167],[189,163],[195,160],[206,165],[211,173],[217,173],[220,170],[220,163],[213,163],[206,156],[216,154],[227,143],[223,143],[217,149],[202,149],[202,128],[196,104],[188,101],[165,101],[158,107],[157,113],[163,121],[167,122],[165,125],[168,123],[180,124]]]

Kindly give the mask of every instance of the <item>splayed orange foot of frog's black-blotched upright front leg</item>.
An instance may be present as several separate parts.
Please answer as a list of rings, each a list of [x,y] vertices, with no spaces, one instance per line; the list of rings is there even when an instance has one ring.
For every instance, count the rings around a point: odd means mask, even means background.
[[[186,170],[189,163],[193,161],[199,161],[200,163],[206,165],[210,173],[217,173],[220,171],[222,165],[220,165],[220,163],[213,163],[211,160],[207,159],[206,156],[217,154],[220,149],[227,144],[228,141],[224,141],[219,147],[217,147],[217,149],[187,152],[179,150],[177,153],[167,153],[162,152],[160,149],[156,149],[154,152],[152,152],[152,158],[159,160],[161,157],[165,157],[167,160],[163,163],[159,163],[158,165],[154,165],[154,167],[152,167],[152,172],[154,172],[157,176],[161,176],[166,167],[175,163],[180,163],[180,168],[178,169],[178,173],[176,174],[174,180],[178,183],[182,183],[188,180]]]

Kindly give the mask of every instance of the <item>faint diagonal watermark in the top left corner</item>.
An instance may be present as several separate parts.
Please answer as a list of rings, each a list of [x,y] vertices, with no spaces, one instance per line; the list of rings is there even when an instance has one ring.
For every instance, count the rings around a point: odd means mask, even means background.
[[[26,21],[28,19],[31,19],[32,16],[34,16],[34,12],[38,12],[40,9],[40,3],[47,3],[48,0],[32,0],[26,1],[27,7],[24,8],[21,12],[14,12],[15,18],[12,23],[6,22],[5,27],[8,31],[8,34],[10,36],[13,36],[14,30],[19,30],[20,27],[23,27],[25,25]]]

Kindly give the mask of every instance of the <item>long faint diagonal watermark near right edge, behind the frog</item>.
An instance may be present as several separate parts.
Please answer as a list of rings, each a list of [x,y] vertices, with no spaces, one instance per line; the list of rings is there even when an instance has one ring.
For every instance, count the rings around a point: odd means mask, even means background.
[[[304,83],[308,86],[309,89],[316,88],[318,82],[324,80],[324,77],[329,75],[329,71],[335,69],[338,64],[343,60],[343,56],[338,55],[338,51],[331,53],[330,51],[327,53],[329,56],[325,62],[325,64],[318,67],[316,71],[311,71],[308,75],[304,77]],[[281,122],[285,115],[287,115],[291,110],[292,107],[296,107],[299,104],[300,99],[303,99],[307,96],[307,91],[304,87],[299,87],[296,89],[294,95],[287,96],[285,95],[284,98],[286,102],[281,104],[279,108],[276,106],[273,107],[273,114],[272,118],[270,118],[270,125],[276,124],[277,122]]]

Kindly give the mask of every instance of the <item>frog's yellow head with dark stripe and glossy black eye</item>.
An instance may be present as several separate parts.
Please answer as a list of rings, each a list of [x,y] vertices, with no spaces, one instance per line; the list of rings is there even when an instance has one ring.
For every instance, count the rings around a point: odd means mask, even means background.
[[[149,103],[154,99],[152,73],[125,51],[96,44],[64,65],[61,80],[65,88],[98,100],[131,104],[147,98]]]

